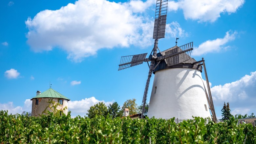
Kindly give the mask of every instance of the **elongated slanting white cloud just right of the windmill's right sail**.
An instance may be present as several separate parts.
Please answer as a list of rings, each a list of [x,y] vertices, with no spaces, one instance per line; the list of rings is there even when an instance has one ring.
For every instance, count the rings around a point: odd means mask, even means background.
[[[200,56],[210,52],[220,52],[226,50],[229,46],[224,46],[226,43],[235,40],[237,32],[231,30],[226,32],[224,38],[217,38],[215,40],[208,40],[195,47],[192,51],[193,56]]]

